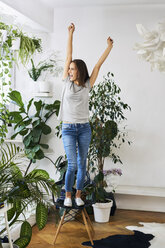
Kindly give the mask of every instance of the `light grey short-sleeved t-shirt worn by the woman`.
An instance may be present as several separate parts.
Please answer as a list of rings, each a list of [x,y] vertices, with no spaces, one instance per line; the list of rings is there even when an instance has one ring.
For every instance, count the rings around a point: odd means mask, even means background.
[[[89,79],[85,87],[78,86],[67,77],[61,97],[58,120],[71,123],[86,123],[89,121]]]

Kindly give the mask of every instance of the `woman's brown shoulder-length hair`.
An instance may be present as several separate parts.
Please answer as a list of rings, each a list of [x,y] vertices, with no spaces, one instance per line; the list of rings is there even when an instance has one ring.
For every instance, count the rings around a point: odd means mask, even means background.
[[[89,78],[89,73],[85,62],[81,59],[74,59],[72,62],[75,63],[78,70],[77,81],[79,82],[79,85],[85,87],[85,82]]]

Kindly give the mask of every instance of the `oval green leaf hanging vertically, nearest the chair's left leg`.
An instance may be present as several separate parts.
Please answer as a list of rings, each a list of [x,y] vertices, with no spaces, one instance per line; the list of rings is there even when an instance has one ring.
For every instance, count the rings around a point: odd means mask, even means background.
[[[45,207],[45,205],[42,202],[40,202],[37,204],[37,208],[36,208],[36,223],[39,230],[42,230],[45,227],[47,223],[47,219],[48,219],[48,209],[47,207]]]

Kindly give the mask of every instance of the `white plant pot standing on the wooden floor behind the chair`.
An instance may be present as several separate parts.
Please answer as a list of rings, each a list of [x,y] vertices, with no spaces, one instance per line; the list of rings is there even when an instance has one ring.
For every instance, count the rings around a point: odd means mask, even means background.
[[[107,203],[95,203],[93,204],[94,218],[96,222],[105,223],[109,222],[110,210],[113,201],[109,200]]]

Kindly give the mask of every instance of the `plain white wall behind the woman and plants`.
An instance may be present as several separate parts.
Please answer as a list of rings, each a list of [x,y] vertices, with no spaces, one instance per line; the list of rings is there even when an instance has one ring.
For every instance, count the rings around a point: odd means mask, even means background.
[[[74,22],[73,57],[85,60],[91,73],[106,47],[107,37],[110,35],[114,39],[114,48],[102,66],[97,82],[108,71],[113,72],[116,83],[122,89],[123,101],[132,108],[131,112],[126,113],[126,124],[129,140],[133,143],[131,146],[123,145],[119,151],[123,161],[120,185],[135,186],[136,189],[138,186],[165,189],[165,77],[160,72],[151,72],[150,65],[140,61],[133,50],[134,44],[142,41],[136,24],[142,23],[152,29],[164,18],[164,12],[165,5],[56,8],[54,32],[49,40],[50,48],[61,51],[64,60],[67,26]],[[59,99],[61,79],[54,79],[52,87],[54,99]],[[56,120],[52,124],[55,125]],[[61,141],[54,136],[51,138],[51,147],[54,149],[53,158],[64,153]],[[43,163],[42,166],[48,168],[49,165]],[[105,167],[111,166],[112,162],[107,159]]]

